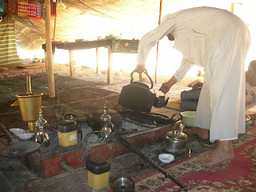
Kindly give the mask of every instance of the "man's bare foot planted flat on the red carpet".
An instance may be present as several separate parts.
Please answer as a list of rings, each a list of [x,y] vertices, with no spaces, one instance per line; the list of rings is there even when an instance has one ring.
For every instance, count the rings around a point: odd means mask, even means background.
[[[232,141],[218,141],[217,146],[205,157],[196,161],[202,166],[216,166],[221,162],[228,162],[234,159]]]

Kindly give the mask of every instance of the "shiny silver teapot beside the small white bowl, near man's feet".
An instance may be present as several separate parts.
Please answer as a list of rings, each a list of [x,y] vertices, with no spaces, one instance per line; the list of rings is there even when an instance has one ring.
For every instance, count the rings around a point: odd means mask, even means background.
[[[181,120],[174,124],[173,130],[166,134],[163,142],[165,150],[173,154],[181,154],[186,151],[187,136],[182,132],[184,127]]]

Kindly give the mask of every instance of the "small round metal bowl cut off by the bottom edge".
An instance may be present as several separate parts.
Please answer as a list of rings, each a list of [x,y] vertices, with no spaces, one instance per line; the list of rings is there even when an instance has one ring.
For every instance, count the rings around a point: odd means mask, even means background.
[[[113,192],[133,192],[134,187],[134,181],[126,177],[115,178],[111,184]]]

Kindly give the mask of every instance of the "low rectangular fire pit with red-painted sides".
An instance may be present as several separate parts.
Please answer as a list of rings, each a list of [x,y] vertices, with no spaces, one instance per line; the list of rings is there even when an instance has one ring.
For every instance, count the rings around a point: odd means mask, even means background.
[[[155,117],[153,121],[151,120],[153,119],[152,116]],[[60,166],[63,160],[68,166],[76,169],[85,166],[86,160],[89,158],[110,159],[130,153],[130,150],[114,138],[107,142],[96,142],[90,147],[85,146],[82,142],[83,138],[92,131],[92,128],[87,125],[86,119],[80,119],[77,122],[82,133],[82,138],[78,136],[78,145],[59,146],[56,125],[47,126],[46,131],[50,137],[50,146],[41,147],[34,154],[22,158],[22,162],[38,175],[49,178],[67,171]],[[172,129],[171,126],[167,115],[152,113],[134,116],[133,113],[122,113],[122,129],[124,130],[122,137],[136,147],[162,141],[166,133]]]

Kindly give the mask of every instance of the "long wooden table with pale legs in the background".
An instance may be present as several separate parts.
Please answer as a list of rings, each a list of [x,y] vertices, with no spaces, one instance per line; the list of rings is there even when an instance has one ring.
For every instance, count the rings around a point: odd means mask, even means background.
[[[96,48],[96,73],[98,73],[100,47],[106,47],[108,49],[108,67],[107,67],[107,84],[113,83],[113,71],[112,71],[112,57],[113,53],[126,53],[137,54],[138,40],[126,40],[126,39],[104,39],[96,41],[82,41],[82,42],[63,42],[53,43],[53,54],[55,48],[61,50],[69,50],[70,53],[70,76],[74,75],[74,61],[73,50],[86,50]],[[42,49],[45,50],[46,44],[42,45]],[[47,64],[46,64],[47,65]]]

